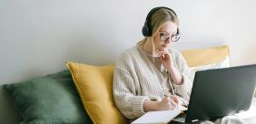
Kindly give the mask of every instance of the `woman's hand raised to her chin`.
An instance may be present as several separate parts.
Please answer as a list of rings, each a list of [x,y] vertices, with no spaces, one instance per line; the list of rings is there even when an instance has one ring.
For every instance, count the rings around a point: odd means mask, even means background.
[[[167,69],[171,69],[172,66],[172,54],[167,50],[157,50],[157,55],[160,57],[162,65]]]

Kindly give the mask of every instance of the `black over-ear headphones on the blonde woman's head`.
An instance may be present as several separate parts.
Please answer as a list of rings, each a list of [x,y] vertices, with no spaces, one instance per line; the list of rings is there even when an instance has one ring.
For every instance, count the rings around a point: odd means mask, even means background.
[[[163,6],[153,8],[147,15],[145,24],[143,25],[143,36],[152,36],[153,28],[151,25],[151,16],[154,12],[162,8],[170,10],[173,14],[177,16],[177,14],[171,8],[163,7]],[[179,33],[179,28],[177,29],[177,33]]]

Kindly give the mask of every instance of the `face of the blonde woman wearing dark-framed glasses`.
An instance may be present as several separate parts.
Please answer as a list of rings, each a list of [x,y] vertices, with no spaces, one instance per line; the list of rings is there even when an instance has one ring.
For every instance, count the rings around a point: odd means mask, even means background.
[[[171,37],[177,33],[178,26],[172,21],[168,21],[162,25],[157,33],[153,36],[153,43],[155,50],[165,50],[170,47],[172,41]]]

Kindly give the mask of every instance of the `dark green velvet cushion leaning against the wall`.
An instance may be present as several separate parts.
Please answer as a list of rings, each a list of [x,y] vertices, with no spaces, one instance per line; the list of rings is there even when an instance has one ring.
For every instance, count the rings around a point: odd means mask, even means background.
[[[5,91],[29,124],[91,124],[69,71],[20,83],[5,84]]]

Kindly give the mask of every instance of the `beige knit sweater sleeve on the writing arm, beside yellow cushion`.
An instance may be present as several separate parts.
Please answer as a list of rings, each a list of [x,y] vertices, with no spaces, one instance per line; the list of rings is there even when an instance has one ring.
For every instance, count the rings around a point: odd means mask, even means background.
[[[116,62],[113,74],[113,98],[116,107],[128,119],[135,119],[144,114],[143,101],[146,96],[137,96],[139,83],[136,72],[133,71],[133,60],[127,53],[123,53]]]

